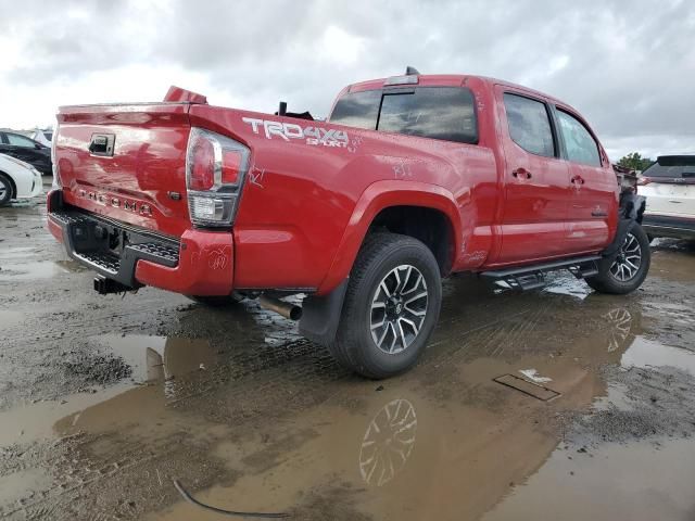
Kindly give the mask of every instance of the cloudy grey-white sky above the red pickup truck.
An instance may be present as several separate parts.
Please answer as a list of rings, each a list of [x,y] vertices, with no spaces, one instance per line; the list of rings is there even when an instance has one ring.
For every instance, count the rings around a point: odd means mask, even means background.
[[[559,98],[614,161],[695,153],[692,0],[0,0],[0,127],[170,85],[326,116],[345,85],[413,65]]]

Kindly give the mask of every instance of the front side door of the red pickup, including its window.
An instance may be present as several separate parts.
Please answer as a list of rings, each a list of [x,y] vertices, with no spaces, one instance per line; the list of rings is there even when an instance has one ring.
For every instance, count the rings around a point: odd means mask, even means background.
[[[555,106],[563,157],[568,161],[568,253],[601,250],[618,218],[616,174],[586,124],[569,109]]]

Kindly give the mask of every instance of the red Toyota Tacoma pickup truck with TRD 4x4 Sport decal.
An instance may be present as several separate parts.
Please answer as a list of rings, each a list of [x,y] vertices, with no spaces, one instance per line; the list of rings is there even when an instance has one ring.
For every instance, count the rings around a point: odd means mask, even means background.
[[[99,292],[260,297],[369,378],[416,363],[442,277],[569,269],[628,293],[649,267],[644,198],[586,122],[505,81],[407,71],[346,87],[326,122],[173,87],[58,124],[48,227]]]

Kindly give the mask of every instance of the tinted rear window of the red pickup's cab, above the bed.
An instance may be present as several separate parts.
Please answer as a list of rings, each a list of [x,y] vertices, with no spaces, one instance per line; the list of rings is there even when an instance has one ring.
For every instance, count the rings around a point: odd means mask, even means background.
[[[330,123],[406,136],[475,144],[472,92],[465,87],[416,87],[344,94]]]

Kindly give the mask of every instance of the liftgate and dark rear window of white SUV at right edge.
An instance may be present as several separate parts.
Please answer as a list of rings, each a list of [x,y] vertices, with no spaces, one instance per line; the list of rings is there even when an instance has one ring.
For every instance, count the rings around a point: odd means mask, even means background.
[[[695,155],[661,156],[642,173],[646,214],[695,219]]]

